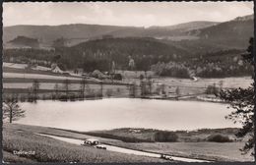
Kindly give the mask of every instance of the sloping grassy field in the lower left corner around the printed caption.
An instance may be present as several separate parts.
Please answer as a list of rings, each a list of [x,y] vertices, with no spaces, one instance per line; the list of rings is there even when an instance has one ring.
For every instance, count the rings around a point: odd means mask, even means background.
[[[3,159],[5,162],[163,162],[157,158],[122,154],[80,146],[54,138],[47,138],[33,133],[54,133],[63,137],[86,138],[55,129],[23,125],[3,125]],[[108,142],[111,140],[108,140]],[[14,155],[14,151],[34,151],[34,154]]]

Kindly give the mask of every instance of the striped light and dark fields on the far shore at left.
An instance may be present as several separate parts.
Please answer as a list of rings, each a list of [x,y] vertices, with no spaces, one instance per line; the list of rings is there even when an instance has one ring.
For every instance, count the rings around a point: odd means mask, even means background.
[[[4,67],[3,88],[4,95],[8,96],[13,93],[18,93],[20,96],[27,97],[32,83],[36,80],[39,83],[38,97],[39,99],[51,99],[55,93],[55,85],[58,84],[58,91],[61,92],[64,88],[64,82],[69,80],[69,92],[71,95],[80,94],[82,78],[65,77],[60,74],[54,74],[44,71],[24,70],[16,68]],[[129,88],[127,83],[120,82],[104,82],[102,83],[103,96],[129,96]],[[62,92],[63,92],[62,91]],[[96,97],[101,93],[101,83],[95,79],[86,79],[86,97]]]

